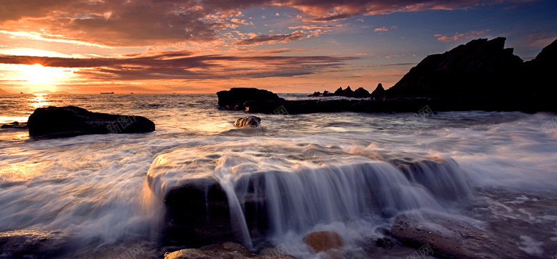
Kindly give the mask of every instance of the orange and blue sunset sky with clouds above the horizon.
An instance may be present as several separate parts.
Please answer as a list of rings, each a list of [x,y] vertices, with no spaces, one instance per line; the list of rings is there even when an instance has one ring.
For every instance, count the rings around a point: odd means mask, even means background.
[[[0,88],[72,93],[391,87],[432,53],[557,38],[557,1],[0,0]]]

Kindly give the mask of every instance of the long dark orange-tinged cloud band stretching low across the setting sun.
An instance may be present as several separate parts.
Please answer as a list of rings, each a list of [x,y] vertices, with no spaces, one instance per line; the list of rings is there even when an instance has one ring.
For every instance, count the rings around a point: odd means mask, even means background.
[[[0,56],[0,63],[79,68],[74,73],[111,81],[297,76],[341,67],[345,61],[354,59],[333,56],[191,56],[189,52],[166,52],[151,56],[128,55],[125,58]]]

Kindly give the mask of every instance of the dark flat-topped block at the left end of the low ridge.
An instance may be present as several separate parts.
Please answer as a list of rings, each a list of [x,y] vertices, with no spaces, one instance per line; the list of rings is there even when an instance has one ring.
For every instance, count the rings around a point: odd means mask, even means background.
[[[246,101],[284,101],[273,92],[257,88],[230,88],[228,91],[217,92],[219,107],[224,110],[244,110]]]

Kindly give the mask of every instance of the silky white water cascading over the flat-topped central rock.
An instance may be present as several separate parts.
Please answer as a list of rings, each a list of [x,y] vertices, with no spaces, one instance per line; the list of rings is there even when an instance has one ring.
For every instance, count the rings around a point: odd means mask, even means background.
[[[311,152],[308,145],[295,147],[288,156],[266,156],[261,150],[265,147],[242,153],[178,150],[159,156],[148,176],[162,195],[184,188],[187,181],[197,186],[200,178],[210,179],[203,182],[206,186],[221,186],[230,228],[249,248],[253,238],[304,233],[317,224],[366,215],[391,218],[407,210],[443,210],[441,203],[471,195],[464,172],[450,158],[422,158],[397,167],[320,146]],[[210,189],[206,186],[203,192]],[[208,211],[214,201],[203,195]]]

